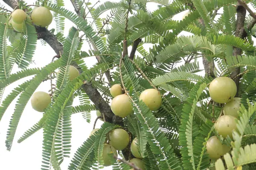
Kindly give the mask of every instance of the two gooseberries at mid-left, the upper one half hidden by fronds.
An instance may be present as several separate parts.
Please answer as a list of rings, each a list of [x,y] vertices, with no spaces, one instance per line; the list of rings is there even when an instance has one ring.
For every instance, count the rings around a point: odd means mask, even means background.
[[[58,79],[59,72],[60,71],[58,71],[57,73],[57,79]],[[72,65],[70,65],[69,73],[70,73],[69,74],[70,81],[79,76],[79,71]],[[44,91],[35,92],[31,97],[32,108],[38,112],[44,112],[44,109],[47,108],[47,106],[51,103],[51,101],[52,101],[51,96]]]

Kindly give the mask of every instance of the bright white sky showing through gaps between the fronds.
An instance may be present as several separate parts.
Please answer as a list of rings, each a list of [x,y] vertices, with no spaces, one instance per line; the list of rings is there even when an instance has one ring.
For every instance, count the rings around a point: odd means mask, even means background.
[[[64,0],[65,1],[65,8],[70,9],[73,11],[73,6],[70,3],[70,0]],[[90,0],[94,2],[94,0]],[[104,3],[106,0],[101,0],[101,3]],[[119,2],[119,0],[111,0],[112,2]],[[35,0],[26,0],[28,4],[33,4]],[[1,4],[3,5],[3,1],[1,1]],[[7,5],[5,5],[7,7]],[[154,3],[148,3],[148,7],[151,10],[154,10],[156,8],[156,4]],[[182,17],[182,14],[179,14],[178,17]],[[65,22],[65,35],[67,35],[67,32],[69,28],[73,25],[70,21],[66,20]],[[51,24],[51,28],[55,27],[55,23],[53,22]],[[186,34],[188,35],[188,34]],[[87,51],[86,46],[82,49],[83,51]],[[38,46],[35,51],[34,60],[36,64],[31,65],[30,68],[35,67],[44,67],[49,62],[51,62],[52,57],[55,56],[55,52],[52,50],[52,48],[49,47],[49,45],[41,46],[41,42],[38,40]],[[94,57],[87,58],[87,64],[88,66],[93,65],[96,62],[96,59]],[[199,61],[201,62],[201,61]],[[17,72],[17,67],[13,69],[12,73]],[[204,74],[202,72],[202,74]],[[21,82],[25,81],[26,79],[22,79],[18,81],[17,83],[14,83],[12,85],[9,85],[6,90],[5,94],[3,96],[3,99],[8,95],[13,88],[15,88],[18,84],[21,84]],[[36,91],[48,91],[50,89],[49,81],[42,83]],[[78,101],[74,102],[74,105],[79,105]],[[5,147],[5,140],[6,140],[6,132],[9,128],[9,120],[12,116],[12,113],[15,108],[15,102],[12,102],[12,104],[7,109],[6,113],[4,114],[1,122],[0,122],[0,170],[39,170],[41,169],[41,161],[42,161],[42,141],[43,141],[43,131],[40,130],[29,139],[26,139],[22,143],[18,144],[17,139],[20,138],[20,136],[23,135],[23,133],[28,130],[32,125],[34,125],[38,120],[41,119],[42,113],[39,113],[32,109],[30,105],[30,101],[28,105],[26,106],[25,110],[23,111],[23,114],[20,119],[20,123],[18,125],[15,139],[12,145],[12,150],[7,151]],[[96,112],[93,111],[92,113],[92,119],[91,123],[87,123],[81,114],[75,114],[72,115],[72,150],[70,154],[70,159],[65,158],[64,162],[61,164],[62,170],[67,170],[68,165],[70,164],[70,160],[73,158],[73,154],[76,152],[77,148],[81,146],[81,144],[87,139],[87,136],[89,136],[91,130],[93,129],[93,122],[96,118]],[[98,121],[96,128],[99,128],[102,124],[101,121]],[[111,170],[111,167],[106,167],[104,170]]]

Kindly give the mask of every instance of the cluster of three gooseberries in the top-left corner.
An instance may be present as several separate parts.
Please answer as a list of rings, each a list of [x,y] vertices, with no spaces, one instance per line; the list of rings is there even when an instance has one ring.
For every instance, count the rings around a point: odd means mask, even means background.
[[[9,24],[15,31],[23,32],[23,22],[26,20],[26,12],[22,9],[16,9],[12,12]],[[31,20],[36,26],[47,27],[52,23],[52,13],[48,8],[40,6],[35,8],[31,13]]]

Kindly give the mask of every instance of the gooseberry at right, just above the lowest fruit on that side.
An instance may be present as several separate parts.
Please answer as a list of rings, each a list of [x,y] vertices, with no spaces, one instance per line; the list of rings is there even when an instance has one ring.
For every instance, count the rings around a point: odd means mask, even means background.
[[[222,137],[226,138],[229,135],[233,139],[232,130],[236,129],[236,118],[230,115],[221,116],[215,123],[215,129]]]

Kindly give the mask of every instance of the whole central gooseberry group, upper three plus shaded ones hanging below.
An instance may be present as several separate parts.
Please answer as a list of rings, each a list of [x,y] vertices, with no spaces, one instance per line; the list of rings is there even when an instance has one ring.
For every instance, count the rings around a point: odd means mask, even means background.
[[[114,97],[111,102],[111,110],[116,116],[126,117],[133,113],[131,101],[128,95],[122,94],[122,87],[121,85],[113,85],[110,89],[111,95]],[[145,104],[151,111],[157,111],[162,105],[162,97],[159,91],[156,89],[147,89],[140,94],[140,100],[143,100]],[[96,115],[102,116],[100,111],[96,111]],[[102,120],[100,118],[100,120]],[[103,120],[102,120],[103,121]],[[95,133],[99,129],[94,129],[90,135]],[[109,140],[109,141],[108,141]],[[111,130],[108,133],[108,140],[105,141],[103,147],[103,161],[104,166],[110,166],[111,161],[108,157],[108,153],[114,153],[117,155],[116,150],[123,150],[125,149],[129,142],[130,136],[128,132],[124,129],[118,128]],[[112,148],[112,149],[111,149]],[[134,164],[136,167],[140,168],[141,170],[145,170],[143,157],[141,156],[139,148],[137,148],[137,138],[135,137],[131,142],[131,153],[135,158],[129,160],[130,163]]]

